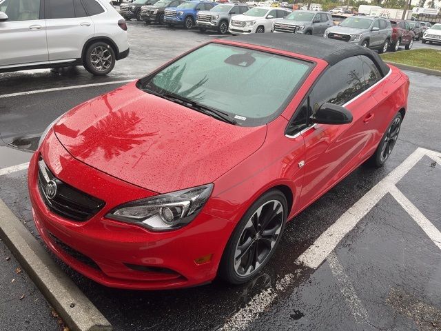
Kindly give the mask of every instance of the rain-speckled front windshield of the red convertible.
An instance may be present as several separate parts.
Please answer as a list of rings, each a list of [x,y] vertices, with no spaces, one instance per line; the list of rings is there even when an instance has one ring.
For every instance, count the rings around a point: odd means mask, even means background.
[[[312,66],[277,54],[209,43],[141,79],[138,87],[222,112],[238,126],[260,126],[285,109]]]

